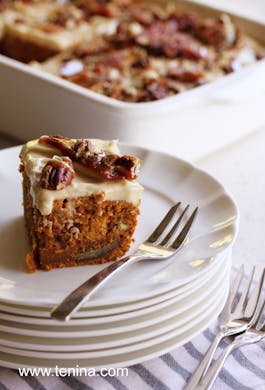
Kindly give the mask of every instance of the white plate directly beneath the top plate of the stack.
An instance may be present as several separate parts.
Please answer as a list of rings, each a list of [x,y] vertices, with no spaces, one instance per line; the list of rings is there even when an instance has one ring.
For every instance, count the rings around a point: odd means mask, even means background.
[[[229,255],[228,255],[229,256]],[[165,299],[163,296],[159,296],[161,301],[156,304],[153,304],[148,307],[143,307],[139,310],[129,311],[121,314],[107,315],[107,316],[95,316],[95,317],[81,317],[75,318],[73,317],[71,321],[67,322],[58,322],[57,320],[45,317],[36,317],[36,316],[25,316],[12,314],[8,312],[0,311],[0,319],[6,320],[15,323],[24,323],[24,324],[32,324],[32,325],[44,325],[44,326],[58,326],[59,324],[62,326],[76,326],[76,325],[97,325],[97,324],[106,324],[109,323],[111,327],[115,326],[115,323],[129,320],[129,319],[139,319],[141,320],[143,315],[150,314],[156,312],[157,310],[164,309],[164,311],[169,310],[172,305],[178,304],[179,310],[184,310],[189,307],[189,305],[194,305],[199,303],[206,295],[208,295],[209,291],[214,288],[214,285],[218,283],[219,278],[225,272],[227,268],[225,264],[227,263],[227,256],[224,257],[224,260],[218,264],[215,272],[211,273],[210,277],[207,279],[199,280],[196,284],[192,284],[190,288],[181,294],[176,294],[170,296],[168,299]],[[212,287],[213,285],[213,287]],[[205,288],[207,286],[207,289]],[[170,292],[173,294],[173,291]],[[167,294],[165,294],[167,296]],[[184,305],[183,305],[184,304]]]

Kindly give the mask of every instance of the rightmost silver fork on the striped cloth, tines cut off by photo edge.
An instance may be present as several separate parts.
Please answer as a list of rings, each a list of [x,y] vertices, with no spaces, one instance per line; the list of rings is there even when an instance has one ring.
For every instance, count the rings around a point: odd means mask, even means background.
[[[262,314],[264,312],[264,309],[265,299],[263,299],[263,303],[261,305],[257,305],[257,310],[251,323],[251,327],[242,334],[236,336],[232,343],[228,344],[228,346],[221,353],[220,357],[216,360],[214,365],[209,369],[209,371],[203,378],[202,382],[198,387],[198,390],[208,390],[211,388],[219,372],[221,371],[225,360],[234,349],[239,348],[243,345],[257,343],[258,341],[265,338],[265,321],[263,323],[263,326],[259,326],[260,322],[263,320]]]

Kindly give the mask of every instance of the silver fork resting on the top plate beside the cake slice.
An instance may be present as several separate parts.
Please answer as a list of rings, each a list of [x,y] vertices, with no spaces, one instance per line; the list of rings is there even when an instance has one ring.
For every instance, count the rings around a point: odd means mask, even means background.
[[[189,208],[189,205],[187,205],[173,224],[176,211],[179,209],[180,205],[181,202],[178,202],[171,207],[151,236],[139,245],[135,253],[115,261],[96,275],[93,275],[81,286],[77,287],[77,289],[71,292],[61,303],[59,303],[59,305],[52,309],[51,317],[61,321],[69,320],[92,294],[128,264],[140,260],[168,259],[175,255],[185,243],[185,239],[198,211],[198,207],[196,207],[184,226],[178,232],[178,228]],[[173,226],[170,228],[169,226],[172,224]],[[167,233],[168,230],[169,232]]]

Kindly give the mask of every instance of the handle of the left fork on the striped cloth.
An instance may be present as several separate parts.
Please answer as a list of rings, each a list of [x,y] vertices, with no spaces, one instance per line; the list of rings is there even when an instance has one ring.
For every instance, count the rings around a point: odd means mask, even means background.
[[[217,335],[215,336],[214,341],[208,348],[206,354],[204,355],[203,359],[201,360],[200,364],[194,371],[193,375],[191,376],[189,382],[187,383],[185,390],[195,390],[198,388],[198,383],[200,382],[201,378],[205,375],[208,367],[210,366],[213,356],[215,354],[215,351],[220,343],[220,341],[225,337],[225,334],[220,330]]]

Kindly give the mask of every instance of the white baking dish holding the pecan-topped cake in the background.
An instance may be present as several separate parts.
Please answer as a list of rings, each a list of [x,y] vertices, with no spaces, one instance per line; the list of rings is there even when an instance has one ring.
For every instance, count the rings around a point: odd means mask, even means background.
[[[222,12],[176,1],[201,15]],[[230,15],[265,45],[265,25]],[[0,131],[21,141],[48,133],[118,138],[195,160],[264,125],[264,99],[265,60],[160,101],[126,103],[0,55]]]

